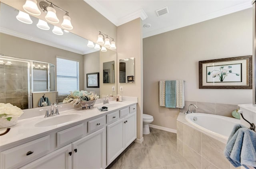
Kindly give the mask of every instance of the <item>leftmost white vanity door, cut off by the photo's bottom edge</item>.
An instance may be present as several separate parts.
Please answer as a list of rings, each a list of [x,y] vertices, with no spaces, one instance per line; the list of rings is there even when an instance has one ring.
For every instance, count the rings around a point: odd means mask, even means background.
[[[57,149],[20,169],[72,169],[72,145]]]

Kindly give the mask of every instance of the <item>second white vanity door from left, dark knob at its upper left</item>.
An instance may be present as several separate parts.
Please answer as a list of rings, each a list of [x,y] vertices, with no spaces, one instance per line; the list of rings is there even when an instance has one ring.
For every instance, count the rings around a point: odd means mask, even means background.
[[[97,130],[72,143],[73,169],[101,169],[104,168],[104,140],[106,142],[106,128]],[[105,131],[105,132],[104,132]],[[105,162],[106,163],[106,162]],[[106,165],[106,164],[105,164]]]

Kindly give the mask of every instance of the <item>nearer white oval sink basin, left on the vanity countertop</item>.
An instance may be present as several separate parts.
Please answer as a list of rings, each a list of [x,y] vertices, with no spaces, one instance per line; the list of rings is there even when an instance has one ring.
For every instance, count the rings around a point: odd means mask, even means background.
[[[45,120],[38,122],[35,124],[35,127],[47,127],[54,125],[63,125],[70,122],[73,122],[77,118],[79,118],[80,114],[66,114],[66,115],[57,115],[53,117],[47,117]]]

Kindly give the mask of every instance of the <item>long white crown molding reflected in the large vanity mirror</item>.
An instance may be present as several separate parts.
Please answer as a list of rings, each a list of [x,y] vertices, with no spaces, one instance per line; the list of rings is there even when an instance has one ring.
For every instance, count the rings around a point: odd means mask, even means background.
[[[25,35],[23,33],[12,31],[10,29],[6,29],[6,28],[0,27],[0,32],[1,33],[5,33],[7,35],[12,35],[12,36],[15,36],[15,37],[20,37],[22,39],[27,39],[29,41],[34,41],[34,42],[37,42],[37,43],[42,43],[44,45],[48,45],[48,46],[56,47],[56,48],[59,48],[59,49],[63,49],[63,50],[66,50],[66,51],[78,53],[80,55],[83,55],[83,53],[84,53],[84,52],[81,52],[81,51],[78,51],[78,50],[74,50],[74,49],[72,49],[70,47],[65,47],[65,46],[62,46],[62,45],[56,45],[55,43],[52,43],[50,41],[45,41],[45,40],[42,40],[42,39],[39,39],[39,38],[36,38],[36,37],[32,37],[30,35]]]

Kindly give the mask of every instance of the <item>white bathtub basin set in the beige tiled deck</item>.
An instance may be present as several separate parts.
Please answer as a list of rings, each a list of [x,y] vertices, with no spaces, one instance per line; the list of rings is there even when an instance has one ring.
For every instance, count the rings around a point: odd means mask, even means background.
[[[226,142],[235,124],[240,124],[240,120],[225,116],[218,116],[206,113],[190,113],[185,116],[193,126],[196,126],[201,132],[218,138],[222,142]]]

